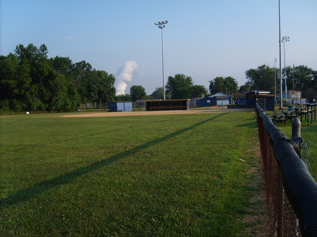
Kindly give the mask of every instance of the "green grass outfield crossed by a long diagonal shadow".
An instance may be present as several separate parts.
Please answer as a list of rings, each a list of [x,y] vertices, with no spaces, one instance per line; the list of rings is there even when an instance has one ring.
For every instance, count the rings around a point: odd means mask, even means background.
[[[1,235],[248,236],[254,119],[2,117]]]

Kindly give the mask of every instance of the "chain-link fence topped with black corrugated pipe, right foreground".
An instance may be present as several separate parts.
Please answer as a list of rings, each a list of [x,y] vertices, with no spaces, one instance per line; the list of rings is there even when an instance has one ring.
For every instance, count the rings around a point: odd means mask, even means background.
[[[317,236],[317,183],[288,139],[256,104],[268,236]]]

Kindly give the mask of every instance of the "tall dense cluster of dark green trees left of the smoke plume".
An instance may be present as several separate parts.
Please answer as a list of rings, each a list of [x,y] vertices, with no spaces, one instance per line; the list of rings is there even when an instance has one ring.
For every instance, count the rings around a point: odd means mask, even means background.
[[[0,109],[46,110],[76,108],[80,103],[114,99],[115,78],[68,57],[47,58],[45,44],[16,46],[0,56]]]

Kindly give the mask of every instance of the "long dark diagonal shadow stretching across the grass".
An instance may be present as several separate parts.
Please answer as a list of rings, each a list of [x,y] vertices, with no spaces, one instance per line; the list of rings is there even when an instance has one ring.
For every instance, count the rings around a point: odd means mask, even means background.
[[[207,120],[204,120],[204,121],[201,121],[197,124],[194,124],[194,125],[191,125],[187,128],[184,128],[182,130],[179,130],[179,131],[176,131],[176,132],[173,132],[169,135],[166,135],[165,137],[161,137],[161,138],[157,138],[153,141],[150,141],[150,142],[147,142],[147,143],[144,143],[142,145],[139,145],[139,146],[136,146],[132,149],[129,149],[127,151],[124,151],[124,152],[121,152],[119,154],[116,154],[116,155],[113,155],[113,156],[110,156],[109,158],[107,159],[104,159],[104,160],[101,160],[101,161],[97,161],[97,162],[94,162],[90,165],[87,165],[85,167],[81,167],[81,168],[78,168],[78,169],[75,169],[73,171],[70,171],[66,174],[63,174],[63,175],[60,175],[56,178],[52,178],[52,179],[47,179],[43,182],[40,182],[40,183],[37,183],[33,186],[30,186],[29,188],[25,188],[23,190],[20,190],[8,197],[5,197],[5,198],[2,198],[0,199],[0,205],[1,205],[1,208],[8,208],[10,205],[13,205],[13,204],[16,204],[16,203],[19,203],[19,202],[22,202],[22,201],[25,201],[25,200],[28,200],[29,198],[32,198],[32,197],[35,197],[36,195],[38,194],[41,194],[42,192],[48,190],[49,188],[52,188],[54,186],[58,186],[58,185],[63,185],[63,184],[66,184],[74,179],[76,179],[77,177],[80,177],[81,175],[84,175],[88,172],[91,172],[91,171],[94,171],[100,167],[103,167],[103,166],[107,166],[119,159],[122,159],[124,157],[127,157],[129,155],[132,155],[134,153],[137,153],[143,149],[146,149],[148,147],[151,147],[153,145],[156,145],[156,144],[159,144],[160,142],[163,142],[165,140],[168,140],[172,137],[175,137],[181,133],[184,133],[186,131],[189,131],[191,129],[194,129],[196,127],[198,127],[199,125],[202,125],[206,122],[209,122],[211,120],[214,120],[214,119],[217,119],[218,117],[224,115],[225,113],[221,113],[221,114],[218,114],[217,116],[214,116],[210,119],[207,119]]]

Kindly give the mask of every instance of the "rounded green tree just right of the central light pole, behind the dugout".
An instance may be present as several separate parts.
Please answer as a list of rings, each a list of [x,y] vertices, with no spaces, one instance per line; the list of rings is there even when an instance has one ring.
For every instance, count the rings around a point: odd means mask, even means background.
[[[166,83],[166,91],[171,93],[172,100],[190,99],[193,79],[184,74],[169,76]]]

